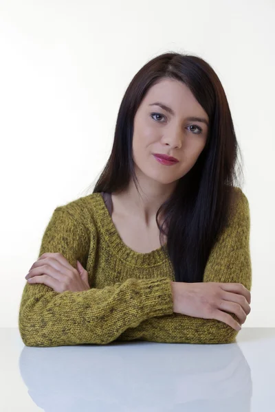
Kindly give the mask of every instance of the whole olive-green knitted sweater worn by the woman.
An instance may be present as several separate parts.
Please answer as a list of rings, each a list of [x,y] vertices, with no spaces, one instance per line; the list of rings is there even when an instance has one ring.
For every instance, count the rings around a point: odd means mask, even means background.
[[[212,248],[203,282],[238,282],[251,290],[250,207],[241,189],[235,190],[240,195],[236,212]],[[39,257],[59,252],[74,268],[79,260],[90,289],[58,293],[26,282],[19,308],[23,343],[234,342],[238,332],[226,323],[173,312],[170,282],[175,277],[167,256],[161,248],[138,253],[127,247],[113,224],[110,197],[105,201],[102,193],[94,193],[54,209]]]

